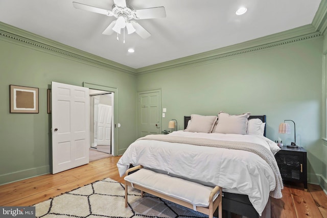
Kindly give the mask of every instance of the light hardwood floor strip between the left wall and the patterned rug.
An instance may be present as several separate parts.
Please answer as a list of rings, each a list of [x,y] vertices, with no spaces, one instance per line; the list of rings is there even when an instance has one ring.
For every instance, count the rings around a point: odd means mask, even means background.
[[[30,206],[97,180],[120,178],[119,156],[95,160],[55,175],[47,174],[0,186],[1,206]]]

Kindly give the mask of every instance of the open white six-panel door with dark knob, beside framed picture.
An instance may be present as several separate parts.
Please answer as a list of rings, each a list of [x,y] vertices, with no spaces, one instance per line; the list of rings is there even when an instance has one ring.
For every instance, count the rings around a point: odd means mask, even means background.
[[[89,162],[89,90],[52,82],[52,173]]]

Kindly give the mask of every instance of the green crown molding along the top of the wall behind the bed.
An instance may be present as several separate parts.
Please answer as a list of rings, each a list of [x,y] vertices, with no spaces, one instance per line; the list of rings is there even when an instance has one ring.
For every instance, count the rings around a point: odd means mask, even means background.
[[[248,52],[259,51],[275,47],[279,45],[285,45],[301,40],[308,40],[315,37],[320,37],[322,34],[316,31],[313,25],[306,25],[291,30],[287,30],[281,33],[272,34],[269,36],[249,40],[239,44],[223,47],[184,58],[175,59],[147,67],[136,69],[137,74],[147,74],[158,70],[164,70],[169,68],[175,68],[180,66],[199,64],[206,61],[213,61],[222,58],[227,58],[235,55],[240,55]]]

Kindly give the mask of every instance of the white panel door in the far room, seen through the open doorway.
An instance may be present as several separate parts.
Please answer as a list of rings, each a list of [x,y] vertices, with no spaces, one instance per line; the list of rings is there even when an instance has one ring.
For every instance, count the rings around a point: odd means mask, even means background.
[[[111,106],[98,105],[98,145],[110,146],[111,141]]]

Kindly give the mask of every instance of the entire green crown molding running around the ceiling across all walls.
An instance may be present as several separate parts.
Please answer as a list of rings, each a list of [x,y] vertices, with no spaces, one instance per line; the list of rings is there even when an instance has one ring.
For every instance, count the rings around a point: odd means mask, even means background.
[[[322,0],[319,6],[319,10],[317,12],[317,14],[319,13],[324,15],[316,15],[313,23],[318,23],[318,20],[321,20],[321,17],[325,17],[326,10],[323,10],[323,8],[327,8],[326,2],[327,0]],[[319,26],[321,26],[321,24]],[[135,69],[0,22],[0,40],[7,40],[22,46],[28,46],[34,50],[61,56],[63,58],[68,58],[96,67],[115,70],[118,73],[125,72],[131,75],[141,75],[164,69],[188,66],[192,64],[201,64],[208,61],[217,61],[222,58],[229,58],[235,55],[260,51],[301,40],[308,40],[320,37],[321,35],[321,31],[318,31],[316,26],[310,24],[287,30],[281,33],[276,33],[269,36],[242,42],[239,44],[226,46],[221,49],[216,49],[184,58],[179,58]]]

